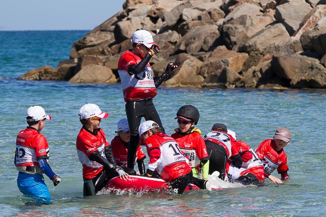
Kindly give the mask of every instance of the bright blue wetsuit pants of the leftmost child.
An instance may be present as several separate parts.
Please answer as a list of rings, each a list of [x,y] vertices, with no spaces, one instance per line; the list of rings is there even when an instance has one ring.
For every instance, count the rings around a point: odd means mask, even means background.
[[[51,199],[50,192],[41,174],[18,173],[17,185],[20,192],[25,195]]]

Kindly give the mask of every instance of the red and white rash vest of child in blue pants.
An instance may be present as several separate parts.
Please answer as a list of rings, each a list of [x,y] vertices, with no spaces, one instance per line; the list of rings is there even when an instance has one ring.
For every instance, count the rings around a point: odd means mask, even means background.
[[[43,174],[38,163],[38,158],[41,156],[49,158],[49,146],[44,135],[32,127],[20,131],[16,138],[15,165],[17,170],[24,172],[26,166],[35,166],[37,167],[36,173]]]

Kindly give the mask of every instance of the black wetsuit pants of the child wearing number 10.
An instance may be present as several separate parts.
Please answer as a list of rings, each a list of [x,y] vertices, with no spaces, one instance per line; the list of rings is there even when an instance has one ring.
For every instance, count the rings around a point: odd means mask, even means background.
[[[205,187],[206,180],[201,180],[193,177],[193,172],[190,171],[187,175],[179,177],[173,181],[168,182],[172,186],[173,193],[182,194],[189,183],[197,185],[201,189],[206,189]]]

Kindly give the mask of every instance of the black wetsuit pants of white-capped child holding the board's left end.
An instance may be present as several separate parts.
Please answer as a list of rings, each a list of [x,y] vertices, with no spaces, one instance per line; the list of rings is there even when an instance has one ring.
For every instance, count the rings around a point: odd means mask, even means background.
[[[122,169],[129,175],[136,175],[136,171],[122,167]],[[91,180],[84,179],[83,196],[94,196],[98,191],[105,187],[106,183],[112,178],[119,176],[118,172],[112,169],[103,169],[96,177]]]

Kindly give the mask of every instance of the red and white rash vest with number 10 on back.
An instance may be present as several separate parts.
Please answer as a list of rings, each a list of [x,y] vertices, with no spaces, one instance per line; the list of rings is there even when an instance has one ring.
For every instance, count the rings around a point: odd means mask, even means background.
[[[190,173],[191,167],[172,137],[157,133],[147,138],[145,144],[150,158],[148,169],[156,170],[163,180],[172,181]]]

